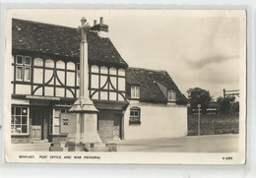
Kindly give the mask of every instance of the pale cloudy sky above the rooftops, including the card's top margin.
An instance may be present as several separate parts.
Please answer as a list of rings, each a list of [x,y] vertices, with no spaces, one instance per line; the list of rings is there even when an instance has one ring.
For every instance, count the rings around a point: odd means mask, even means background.
[[[167,71],[185,95],[188,89],[201,88],[217,98],[223,89],[239,89],[245,18],[234,12],[17,9],[9,13],[9,19],[72,28],[81,26],[82,17],[91,26],[103,17],[107,36],[129,66]]]

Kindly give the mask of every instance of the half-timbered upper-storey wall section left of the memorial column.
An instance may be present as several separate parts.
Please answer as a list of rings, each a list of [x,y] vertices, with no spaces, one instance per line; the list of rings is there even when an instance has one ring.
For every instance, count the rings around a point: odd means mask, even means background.
[[[15,55],[13,58],[13,65],[17,65],[17,57],[26,55]],[[76,65],[73,62],[64,62],[61,60],[46,59],[31,57],[30,65],[19,65],[23,68],[30,69],[30,80],[25,80],[24,77],[18,80],[14,68],[12,67],[12,81],[15,94],[29,94],[29,95],[45,95],[45,96],[59,96],[59,97],[76,97],[78,92],[78,81]],[[24,61],[24,60],[23,60]],[[45,66],[45,67],[43,67]],[[16,68],[17,69],[17,68]],[[44,72],[43,72],[44,71]],[[44,74],[45,73],[45,74]]]

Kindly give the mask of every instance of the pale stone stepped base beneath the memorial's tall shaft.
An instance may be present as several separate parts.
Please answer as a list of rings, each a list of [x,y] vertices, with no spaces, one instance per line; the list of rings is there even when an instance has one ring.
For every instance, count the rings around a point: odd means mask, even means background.
[[[82,105],[74,104],[71,111],[78,112],[77,119],[69,123],[66,146],[69,151],[112,151],[116,149],[102,143],[97,134],[97,110],[90,100],[80,97]],[[80,110],[81,109],[81,110]]]

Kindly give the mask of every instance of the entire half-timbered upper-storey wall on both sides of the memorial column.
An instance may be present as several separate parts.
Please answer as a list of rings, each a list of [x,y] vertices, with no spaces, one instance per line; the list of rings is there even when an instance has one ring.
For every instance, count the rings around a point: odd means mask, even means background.
[[[12,69],[12,81],[15,94],[45,95],[58,97],[77,97],[79,93],[78,63],[64,62],[55,59],[41,59],[33,56],[15,55],[13,65],[30,69],[30,80],[17,79],[14,68]],[[17,59],[23,57],[23,63],[17,63]],[[31,57],[30,65],[25,63],[25,58]],[[98,67],[90,68],[90,95],[96,100],[125,100],[125,69]],[[17,73],[17,72],[16,72]],[[19,73],[18,73],[19,74]],[[14,76],[15,75],[15,76]],[[23,75],[22,75],[23,76]]]

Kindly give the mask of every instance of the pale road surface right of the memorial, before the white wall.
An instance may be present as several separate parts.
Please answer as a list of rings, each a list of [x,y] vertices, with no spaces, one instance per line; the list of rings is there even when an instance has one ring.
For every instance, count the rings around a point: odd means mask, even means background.
[[[147,140],[113,141],[117,151],[137,152],[235,152],[238,134],[188,136]],[[109,143],[109,142],[108,142]]]

